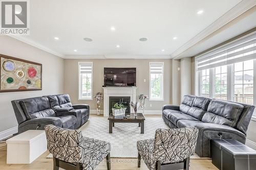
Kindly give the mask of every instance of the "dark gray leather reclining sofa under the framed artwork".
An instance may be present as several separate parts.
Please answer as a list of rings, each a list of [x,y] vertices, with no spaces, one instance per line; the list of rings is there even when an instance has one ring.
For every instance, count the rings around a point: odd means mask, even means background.
[[[18,133],[35,129],[44,130],[49,124],[77,129],[88,121],[90,115],[90,106],[72,105],[69,94],[20,99],[11,103],[18,122]]]

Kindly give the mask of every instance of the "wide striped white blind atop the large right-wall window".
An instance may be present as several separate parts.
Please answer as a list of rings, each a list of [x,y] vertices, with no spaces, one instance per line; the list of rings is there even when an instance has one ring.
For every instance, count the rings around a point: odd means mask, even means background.
[[[197,70],[256,58],[256,33],[197,57]]]

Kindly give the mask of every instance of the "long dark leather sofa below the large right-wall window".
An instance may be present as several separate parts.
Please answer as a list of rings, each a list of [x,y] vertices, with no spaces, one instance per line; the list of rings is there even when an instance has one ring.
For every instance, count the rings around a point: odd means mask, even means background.
[[[170,128],[197,127],[196,153],[210,157],[210,139],[246,141],[246,131],[254,106],[185,95],[180,106],[164,105],[162,117]]]

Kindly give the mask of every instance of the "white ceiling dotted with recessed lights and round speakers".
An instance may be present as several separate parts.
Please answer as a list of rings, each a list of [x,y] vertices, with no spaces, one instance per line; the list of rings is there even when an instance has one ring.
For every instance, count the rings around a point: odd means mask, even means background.
[[[253,4],[255,0],[30,1],[30,35],[15,38],[63,58],[173,58]],[[148,41],[139,41],[141,37]]]

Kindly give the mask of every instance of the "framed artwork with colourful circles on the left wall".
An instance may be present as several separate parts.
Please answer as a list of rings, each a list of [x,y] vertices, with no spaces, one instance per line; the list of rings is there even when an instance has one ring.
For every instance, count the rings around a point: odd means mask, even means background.
[[[0,92],[42,89],[42,64],[0,54]]]

